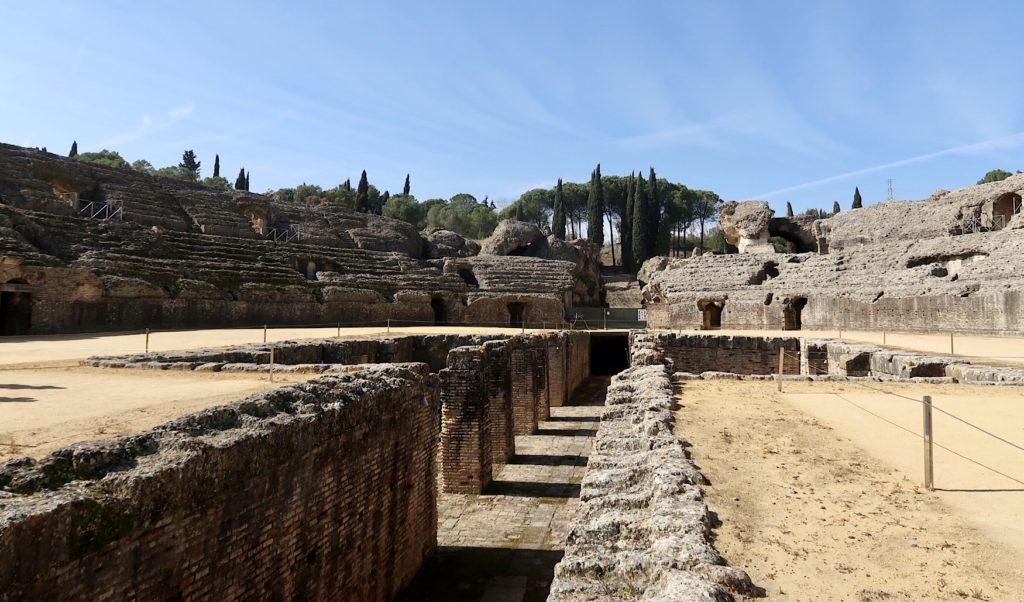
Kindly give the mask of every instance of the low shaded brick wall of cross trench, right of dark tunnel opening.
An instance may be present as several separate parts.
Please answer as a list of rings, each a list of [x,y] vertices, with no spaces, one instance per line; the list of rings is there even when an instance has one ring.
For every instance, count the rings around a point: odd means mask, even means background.
[[[786,351],[785,374],[800,374],[800,339],[720,335],[654,336],[654,346],[673,362],[676,372],[775,374],[778,350]]]

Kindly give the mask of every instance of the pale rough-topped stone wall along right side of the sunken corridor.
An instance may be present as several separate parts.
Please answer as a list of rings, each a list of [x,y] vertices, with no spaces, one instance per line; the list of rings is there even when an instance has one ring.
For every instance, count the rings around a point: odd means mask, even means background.
[[[637,357],[634,354],[634,357]],[[612,378],[548,600],[731,600],[746,573],[712,545],[706,479],[674,434],[669,370]]]

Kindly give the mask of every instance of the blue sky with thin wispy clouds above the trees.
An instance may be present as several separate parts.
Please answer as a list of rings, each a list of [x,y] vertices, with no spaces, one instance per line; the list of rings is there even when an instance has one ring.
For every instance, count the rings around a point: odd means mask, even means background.
[[[514,200],[653,166],[776,211],[1024,169],[1020,2],[17,2],[0,140],[254,190]]]

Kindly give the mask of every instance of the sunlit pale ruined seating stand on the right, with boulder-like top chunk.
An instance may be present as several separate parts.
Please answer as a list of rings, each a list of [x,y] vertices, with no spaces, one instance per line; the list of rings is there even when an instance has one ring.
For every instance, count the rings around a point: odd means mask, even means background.
[[[722,228],[740,254],[649,260],[648,324],[1024,332],[1022,195],[1024,174],[810,222],[728,203]],[[807,252],[774,253],[775,235]]]

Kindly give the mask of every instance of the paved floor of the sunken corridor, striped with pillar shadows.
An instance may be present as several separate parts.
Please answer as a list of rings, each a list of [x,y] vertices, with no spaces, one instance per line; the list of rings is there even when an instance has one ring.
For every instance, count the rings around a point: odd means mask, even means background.
[[[441,493],[437,554],[400,600],[519,602],[548,597],[580,505],[609,377],[591,377],[552,407],[537,434],[516,437],[482,496]]]

